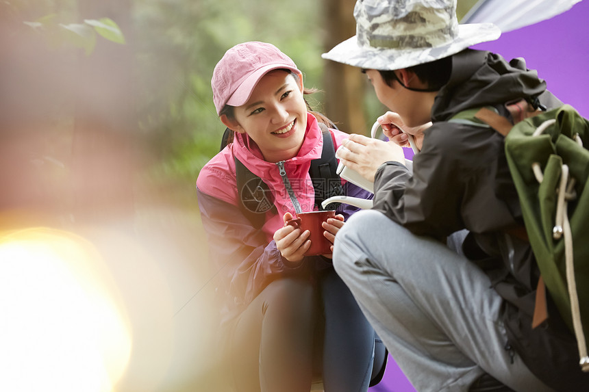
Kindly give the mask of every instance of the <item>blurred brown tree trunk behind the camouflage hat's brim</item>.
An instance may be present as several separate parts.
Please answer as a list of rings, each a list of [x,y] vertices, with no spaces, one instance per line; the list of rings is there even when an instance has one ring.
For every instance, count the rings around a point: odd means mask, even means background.
[[[324,0],[327,35],[325,51],[355,35],[355,0]],[[364,80],[360,69],[327,60],[325,62],[325,114],[347,133],[365,133]]]

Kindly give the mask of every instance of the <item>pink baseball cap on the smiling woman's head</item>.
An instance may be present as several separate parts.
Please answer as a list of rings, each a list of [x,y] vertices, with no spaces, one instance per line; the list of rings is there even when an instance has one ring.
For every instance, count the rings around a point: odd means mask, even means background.
[[[266,73],[288,69],[301,74],[290,57],[273,44],[244,42],[229,49],[213,71],[211,86],[217,114],[225,105],[241,106]]]

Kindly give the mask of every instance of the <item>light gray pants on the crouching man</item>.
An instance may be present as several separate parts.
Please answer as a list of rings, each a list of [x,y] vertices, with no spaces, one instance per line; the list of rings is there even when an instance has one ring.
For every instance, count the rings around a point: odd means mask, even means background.
[[[338,232],[336,272],[418,391],[468,391],[485,372],[516,391],[551,391],[505,350],[502,299],[479,267],[378,211]]]

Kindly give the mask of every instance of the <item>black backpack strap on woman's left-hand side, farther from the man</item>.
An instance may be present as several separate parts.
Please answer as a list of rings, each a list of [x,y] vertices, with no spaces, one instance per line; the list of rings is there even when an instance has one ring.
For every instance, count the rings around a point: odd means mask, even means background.
[[[253,227],[262,228],[268,211],[278,213],[270,187],[260,177],[249,171],[237,157],[235,158],[235,175],[242,213]]]

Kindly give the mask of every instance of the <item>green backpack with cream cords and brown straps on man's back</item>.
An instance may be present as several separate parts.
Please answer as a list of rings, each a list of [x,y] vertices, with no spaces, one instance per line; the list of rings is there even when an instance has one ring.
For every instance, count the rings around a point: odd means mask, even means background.
[[[461,112],[451,121],[505,136],[507,164],[541,274],[533,326],[547,317],[545,285],[575,333],[581,369],[589,371],[589,120],[570,105],[548,112],[521,108],[518,118],[508,107],[515,125],[492,107]]]

